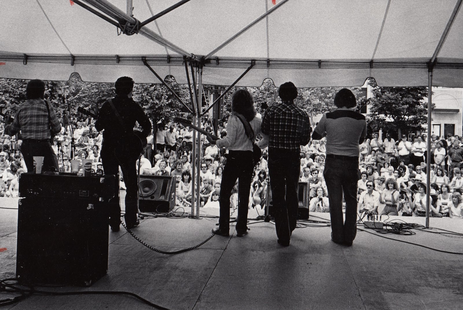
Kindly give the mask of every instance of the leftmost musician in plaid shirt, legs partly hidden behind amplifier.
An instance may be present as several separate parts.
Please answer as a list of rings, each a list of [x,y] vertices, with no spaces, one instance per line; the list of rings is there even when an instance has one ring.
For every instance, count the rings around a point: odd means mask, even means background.
[[[58,159],[51,148],[50,138],[51,134],[61,131],[61,124],[53,106],[44,101],[44,93],[44,81],[29,81],[26,86],[27,101],[19,106],[13,123],[8,124],[9,117],[6,120],[6,134],[13,136],[21,131],[21,153],[29,172],[34,171],[34,156],[44,157],[42,171],[58,171]]]

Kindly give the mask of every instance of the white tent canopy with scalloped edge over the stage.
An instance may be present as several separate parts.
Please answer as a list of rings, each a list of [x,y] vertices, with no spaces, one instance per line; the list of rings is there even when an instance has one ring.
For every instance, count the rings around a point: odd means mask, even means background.
[[[149,19],[179,0],[82,0],[117,22]],[[238,86],[463,87],[461,0],[190,0],[140,28],[117,27],[69,0],[3,1],[0,77],[186,83],[184,57],[204,64],[203,84]],[[130,5],[129,5],[130,6]],[[268,15],[265,15],[268,13]],[[260,18],[260,19],[259,19]],[[244,30],[240,35],[240,31]],[[223,44],[227,43],[228,44]],[[190,58],[191,57],[191,58]]]

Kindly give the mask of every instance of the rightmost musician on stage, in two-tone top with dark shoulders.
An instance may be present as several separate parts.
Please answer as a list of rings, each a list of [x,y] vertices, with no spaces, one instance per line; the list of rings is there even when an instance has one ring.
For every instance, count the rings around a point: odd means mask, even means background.
[[[354,111],[357,105],[349,89],[334,97],[338,109],[323,115],[312,138],[326,136],[324,177],[328,189],[331,216],[331,240],[351,246],[357,234],[357,179],[359,145],[367,133],[365,116]],[[346,203],[343,223],[343,193]]]

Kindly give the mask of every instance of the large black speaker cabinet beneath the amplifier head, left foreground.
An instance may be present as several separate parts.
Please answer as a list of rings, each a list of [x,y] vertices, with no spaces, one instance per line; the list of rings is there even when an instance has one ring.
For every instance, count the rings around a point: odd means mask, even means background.
[[[93,284],[108,269],[108,206],[98,200],[19,200],[16,276],[25,283]]]

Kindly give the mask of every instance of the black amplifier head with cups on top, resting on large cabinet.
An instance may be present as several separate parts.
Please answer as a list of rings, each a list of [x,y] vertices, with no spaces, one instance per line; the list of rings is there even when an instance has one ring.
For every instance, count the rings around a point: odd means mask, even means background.
[[[18,196],[107,201],[114,196],[115,189],[116,181],[112,174],[81,177],[27,172],[19,176]]]

